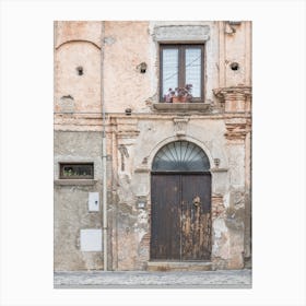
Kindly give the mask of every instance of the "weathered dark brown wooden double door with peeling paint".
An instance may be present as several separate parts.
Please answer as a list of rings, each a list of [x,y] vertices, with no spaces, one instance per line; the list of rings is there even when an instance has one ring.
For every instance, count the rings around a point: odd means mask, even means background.
[[[210,173],[151,177],[151,260],[210,260]]]

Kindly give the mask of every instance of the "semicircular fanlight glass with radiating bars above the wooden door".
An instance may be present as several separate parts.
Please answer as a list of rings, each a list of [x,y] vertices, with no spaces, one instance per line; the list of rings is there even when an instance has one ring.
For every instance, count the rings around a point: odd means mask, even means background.
[[[188,141],[175,141],[157,152],[152,169],[155,172],[204,172],[210,169],[210,162],[198,145]]]

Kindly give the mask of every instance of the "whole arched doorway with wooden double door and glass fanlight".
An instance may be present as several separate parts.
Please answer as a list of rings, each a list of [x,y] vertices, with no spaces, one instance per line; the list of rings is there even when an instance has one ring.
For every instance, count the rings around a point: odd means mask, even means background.
[[[151,172],[151,260],[210,260],[211,174],[201,148],[164,145]]]

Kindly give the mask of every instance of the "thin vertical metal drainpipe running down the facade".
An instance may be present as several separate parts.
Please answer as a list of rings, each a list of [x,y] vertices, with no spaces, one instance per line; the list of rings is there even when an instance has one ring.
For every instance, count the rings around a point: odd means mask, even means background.
[[[103,170],[103,268],[107,271],[107,184],[106,184],[106,132],[105,132],[105,105],[104,105],[104,36],[105,22],[102,23],[101,33],[101,106],[102,106],[102,170]]]

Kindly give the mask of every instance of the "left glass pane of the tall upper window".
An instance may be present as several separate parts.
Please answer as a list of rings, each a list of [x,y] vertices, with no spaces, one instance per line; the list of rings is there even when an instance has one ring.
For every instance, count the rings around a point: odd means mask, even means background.
[[[163,50],[163,96],[178,86],[178,49]]]

